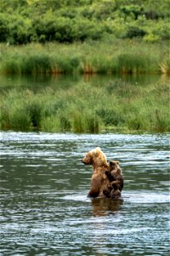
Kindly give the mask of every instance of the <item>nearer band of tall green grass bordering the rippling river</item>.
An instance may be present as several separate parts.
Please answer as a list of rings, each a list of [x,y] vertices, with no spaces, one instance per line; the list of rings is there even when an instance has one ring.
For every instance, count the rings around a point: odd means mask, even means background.
[[[104,88],[10,90],[0,103],[0,125],[15,131],[170,131],[169,85],[147,87],[118,79]]]

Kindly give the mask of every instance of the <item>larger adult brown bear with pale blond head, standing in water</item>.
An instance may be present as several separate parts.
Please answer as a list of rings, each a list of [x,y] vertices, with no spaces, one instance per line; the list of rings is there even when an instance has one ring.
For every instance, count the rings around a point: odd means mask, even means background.
[[[92,165],[94,172],[91,179],[91,189],[88,192],[89,197],[107,197],[111,191],[111,182],[106,176],[105,171],[109,172],[109,165],[105,154],[99,147],[89,151],[82,159],[85,165]],[[105,194],[104,194],[105,191]]]

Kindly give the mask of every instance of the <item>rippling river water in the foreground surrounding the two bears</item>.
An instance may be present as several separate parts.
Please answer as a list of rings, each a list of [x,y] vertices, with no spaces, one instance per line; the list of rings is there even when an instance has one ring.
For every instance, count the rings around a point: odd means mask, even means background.
[[[0,255],[169,255],[168,135],[1,132]],[[122,200],[87,198],[100,146]]]

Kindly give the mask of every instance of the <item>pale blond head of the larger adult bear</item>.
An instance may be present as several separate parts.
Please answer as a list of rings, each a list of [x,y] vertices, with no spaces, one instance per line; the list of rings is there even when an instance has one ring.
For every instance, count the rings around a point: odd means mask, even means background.
[[[99,147],[89,151],[82,159],[82,163],[85,165],[107,166],[106,156]]]

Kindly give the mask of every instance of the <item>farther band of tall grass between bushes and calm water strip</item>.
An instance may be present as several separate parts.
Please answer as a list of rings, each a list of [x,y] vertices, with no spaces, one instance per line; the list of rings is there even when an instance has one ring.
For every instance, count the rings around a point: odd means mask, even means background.
[[[74,44],[1,44],[0,73],[170,74],[169,42],[138,39]]]

